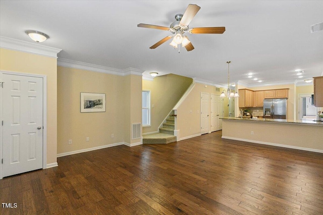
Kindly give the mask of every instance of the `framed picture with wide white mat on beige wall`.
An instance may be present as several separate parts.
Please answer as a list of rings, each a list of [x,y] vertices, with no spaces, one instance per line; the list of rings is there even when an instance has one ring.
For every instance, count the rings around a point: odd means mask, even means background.
[[[105,93],[81,92],[81,113],[105,112]]]

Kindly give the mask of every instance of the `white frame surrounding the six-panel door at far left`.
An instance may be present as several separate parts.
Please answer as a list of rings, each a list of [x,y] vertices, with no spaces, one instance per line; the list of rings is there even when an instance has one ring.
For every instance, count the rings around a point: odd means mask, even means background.
[[[29,73],[19,73],[19,72],[11,72],[11,71],[0,71],[0,82],[3,80],[3,74],[8,75],[20,75],[20,76],[29,76],[29,77],[38,77],[43,80],[43,136],[42,136],[42,169],[46,169],[47,166],[47,76],[45,75],[37,75],[37,74],[29,74]],[[6,83],[4,83],[6,84]],[[3,121],[3,88],[0,87],[0,122]],[[3,167],[1,160],[4,158],[4,143],[3,143],[3,126],[0,124],[0,179],[3,179]]]

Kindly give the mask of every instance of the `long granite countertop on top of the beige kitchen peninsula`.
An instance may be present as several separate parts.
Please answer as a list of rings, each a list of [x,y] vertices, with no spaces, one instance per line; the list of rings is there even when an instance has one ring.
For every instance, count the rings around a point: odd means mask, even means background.
[[[281,119],[250,119],[250,118],[240,118],[240,117],[223,117],[223,120],[239,120],[239,121],[253,121],[253,122],[270,122],[270,123],[291,123],[291,124],[302,124],[302,125],[320,125],[323,126],[322,121],[313,120],[281,120]]]

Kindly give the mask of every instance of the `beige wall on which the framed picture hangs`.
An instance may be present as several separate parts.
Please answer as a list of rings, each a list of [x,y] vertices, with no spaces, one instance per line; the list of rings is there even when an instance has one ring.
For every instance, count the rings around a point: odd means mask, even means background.
[[[80,92],[105,93],[106,111],[80,113]],[[140,142],[131,140],[131,123],[141,123],[141,76],[58,67],[58,154]]]

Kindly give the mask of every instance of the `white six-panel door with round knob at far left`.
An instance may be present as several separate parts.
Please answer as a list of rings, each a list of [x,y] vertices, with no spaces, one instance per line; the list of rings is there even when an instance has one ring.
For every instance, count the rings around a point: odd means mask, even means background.
[[[43,79],[3,74],[3,177],[42,168]]]

